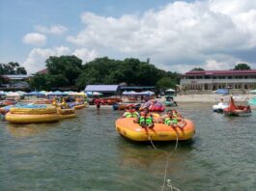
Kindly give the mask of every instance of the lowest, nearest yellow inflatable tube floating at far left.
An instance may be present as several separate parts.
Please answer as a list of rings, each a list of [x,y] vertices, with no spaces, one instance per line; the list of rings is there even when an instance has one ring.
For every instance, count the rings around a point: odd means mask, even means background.
[[[52,123],[60,120],[60,115],[41,114],[41,115],[25,115],[25,114],[6,114],[6,121],[10,123]]]

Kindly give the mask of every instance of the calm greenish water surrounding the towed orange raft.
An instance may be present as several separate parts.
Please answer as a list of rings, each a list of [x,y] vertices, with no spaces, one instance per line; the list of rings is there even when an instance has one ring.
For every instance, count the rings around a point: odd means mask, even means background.
[[[179,143],[167,178],[181,190],[255,190],[256,111],[227,118],[211,105],[178,107],[196,135]],[[0,190],[161,190],[175,143],[134,144],[114,127],[122,112],[87,108],[50,124],[0,123]],[[170,190],[168,186],[165,190]]]

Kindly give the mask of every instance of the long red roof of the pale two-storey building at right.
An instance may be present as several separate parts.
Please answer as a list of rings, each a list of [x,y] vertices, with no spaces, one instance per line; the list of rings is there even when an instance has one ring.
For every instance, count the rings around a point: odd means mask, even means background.
[[[240,70],[190,70],[185,75],[246,75],[256,74],[256,69],[240,69]]]

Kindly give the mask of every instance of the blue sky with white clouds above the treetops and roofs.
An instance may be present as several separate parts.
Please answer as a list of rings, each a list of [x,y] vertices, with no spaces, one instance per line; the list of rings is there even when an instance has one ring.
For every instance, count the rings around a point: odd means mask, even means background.
[[[253,0],[0,0],[0,63],[138,58],[156,68],[256,68]]]

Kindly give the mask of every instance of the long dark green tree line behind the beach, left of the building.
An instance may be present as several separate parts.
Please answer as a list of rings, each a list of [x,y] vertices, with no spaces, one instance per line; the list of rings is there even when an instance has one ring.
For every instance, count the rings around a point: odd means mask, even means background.
[[[180,83],[179,73],[156,68],[135,58],[121,61],[102,57],[83,65],[75,56],[50,56],[45,63],[47,72],[37,73],[30,80],[33,89],[83,90],[89,84],[126,83],[128,86],[156,86],[162,90],[175,88]]]

